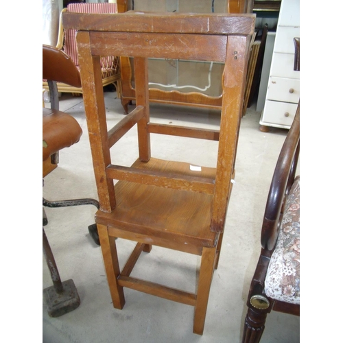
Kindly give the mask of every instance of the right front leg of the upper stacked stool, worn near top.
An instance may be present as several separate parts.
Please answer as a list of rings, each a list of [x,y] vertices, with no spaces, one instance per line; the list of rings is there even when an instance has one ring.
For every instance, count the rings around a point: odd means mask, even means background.
[[[228,36],[228,60],[223,74],[223,105],[217,175],[215,176],[215,194],[213,197],[213,215],[211,231],[221,233],[224,230],[228,200],[232,189],[231,178],[235,169],[237,141],[241,111],[243,108],[244,83],[247,69],[248,38]]]

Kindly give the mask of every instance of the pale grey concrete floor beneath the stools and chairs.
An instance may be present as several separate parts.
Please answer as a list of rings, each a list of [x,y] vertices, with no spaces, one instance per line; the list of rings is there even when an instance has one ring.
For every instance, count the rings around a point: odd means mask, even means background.
[[[108,126],[113,126],[123,118],[123,108],[116,93],[105,95]],[[58,168],[45,178],[43,196],[47,200],[97,199],[82,97],[62,95],[60,110],[78,120],[83,135],[78,144],[60,152]],[[240,342],[248,288],[259,256],[265,200],[287,134],[287,130],[278,128],[267,133],[259,131],[259,117],[252,105],[241,120],[235,185],[219,268],[213,276],[204,334],[192,333],[193,307],[188,305],[124,289],[125,307],[113,308],[101,249],[88,234],[87,227],[93,224],[96,211],[95,206],[88,205],[46,209],[49,224],[45,232],[61,279],[73,279],[81,305],[69,314],[50,318],[43,301],[43,342]],[[155,122],[216,128],[219,120],[215,110],[151,106],[151,121]],[[191,150],[184,139],[152,135],[152,155],[211,165],[215,161],[215,143],[198,143],[198,148]],[[136,145],[136,131],[132,128],[114,147],[115,161],[130,163],[136,158]],[[132,242],[118,239],[117,246],[119,259],[124,263],[133,248]],[[150,254],[141,256],[132,275],[194,292],[199,264],[197,256],[154,246]],[[43,258],[43,289],[51,285]],[[268,316],[261,342],[299,342],[299,331],[298,317],[273,312]]]

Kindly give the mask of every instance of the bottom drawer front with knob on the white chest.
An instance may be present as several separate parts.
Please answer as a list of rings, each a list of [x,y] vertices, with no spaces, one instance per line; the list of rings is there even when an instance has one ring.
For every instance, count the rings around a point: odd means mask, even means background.
[[[289,102],[273,102],[267,100],[265,102],[263,115],[261,121],[263,125],[276,124],[281,126],[292,125],[294,116],[296,115],[296,108],[298,104],[290,104]]]

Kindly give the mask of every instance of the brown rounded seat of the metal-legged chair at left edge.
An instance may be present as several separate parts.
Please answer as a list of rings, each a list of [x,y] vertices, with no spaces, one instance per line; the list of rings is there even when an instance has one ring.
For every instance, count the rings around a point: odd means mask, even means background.
[[[64,147],[78,143],[82,129],[67,113],[43,108],[43,161]]]

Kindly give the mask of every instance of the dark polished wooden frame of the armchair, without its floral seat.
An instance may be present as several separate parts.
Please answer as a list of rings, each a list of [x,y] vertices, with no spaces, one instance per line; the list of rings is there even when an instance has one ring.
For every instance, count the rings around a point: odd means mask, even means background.
[[[300,70],[300,38],[294,38],[294,70]],[[286,303],[265,294],[265,278],[272,253],[275,250],[282,225],[283,212],[289,192],[296,177],[300,154],[300,102],[291,128],[283,143],[276,163],[261,229],[261,253],[252,276],[248,294],[248,311],[244,323],[242,343],[259,343],[265,328],[265,320],[271,311],[300,316],[300,304]],[[257,298],[257,301],[255,300]]]

